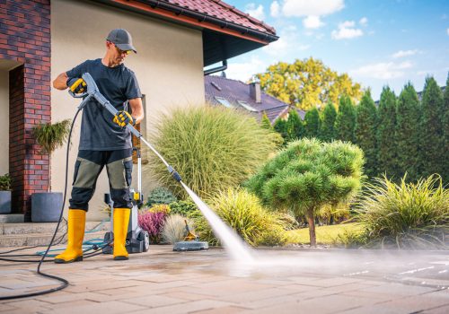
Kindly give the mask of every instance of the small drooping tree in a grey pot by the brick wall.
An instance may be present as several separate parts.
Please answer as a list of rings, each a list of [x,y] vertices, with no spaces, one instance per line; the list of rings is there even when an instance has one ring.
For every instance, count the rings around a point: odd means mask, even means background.
[[[55,124],[44,123],[34,126],[32,135],[40,145],[40,154],[48,154],[48,182],[51,182],[51,153],[66,142],[71,120],[66,119]],[[62,207],[62,193],[48,191],[31,195],[31,221],[57,222]]]

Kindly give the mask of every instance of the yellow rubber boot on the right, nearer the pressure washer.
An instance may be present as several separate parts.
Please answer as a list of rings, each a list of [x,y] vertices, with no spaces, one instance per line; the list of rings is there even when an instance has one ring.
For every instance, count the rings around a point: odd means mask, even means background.
[[[128,259],[125,244],[130,212],[129,208],[114,208],[114,260]]]

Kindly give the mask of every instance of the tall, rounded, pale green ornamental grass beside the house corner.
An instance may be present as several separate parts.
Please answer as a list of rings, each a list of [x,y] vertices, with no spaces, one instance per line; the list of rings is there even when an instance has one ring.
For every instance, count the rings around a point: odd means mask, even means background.
[[[275,133],[242,111],[212,106],[174,109],[155,125],[151,142],[200,197],[238,186],[267,160]],[[149,170],[177,196],[187,194],[166,166],[152,158]]]

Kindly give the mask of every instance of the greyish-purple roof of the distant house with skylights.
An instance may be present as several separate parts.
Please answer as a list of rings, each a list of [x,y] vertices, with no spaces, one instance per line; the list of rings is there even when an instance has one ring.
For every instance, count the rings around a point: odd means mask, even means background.
[[[260,92],[260,103],[258,103],[251,98],[250,84],[227,79],[223,76],[205,76],[205,92],[206,100],[211,104],[225,107],[230,105],[233,108],[246,109],[259,119],[265,112],[271,124],[277,118],[285,117],[290,109],[288,104],[265,92]],[[299,116],[304,119],[305,112],[300,109],[297,109],[297,111]]]

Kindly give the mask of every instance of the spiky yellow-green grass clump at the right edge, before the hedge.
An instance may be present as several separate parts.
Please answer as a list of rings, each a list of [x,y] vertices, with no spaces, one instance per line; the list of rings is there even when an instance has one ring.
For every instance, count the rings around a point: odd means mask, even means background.
[[[449,231],[449,191],[440,177],[400,184],[376,179],[367,184],[358,208],[370,246],[402,249],[445,248]]]

